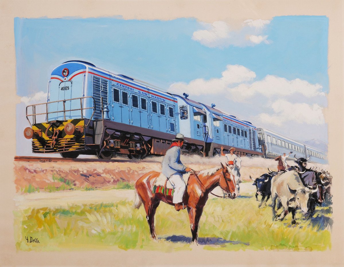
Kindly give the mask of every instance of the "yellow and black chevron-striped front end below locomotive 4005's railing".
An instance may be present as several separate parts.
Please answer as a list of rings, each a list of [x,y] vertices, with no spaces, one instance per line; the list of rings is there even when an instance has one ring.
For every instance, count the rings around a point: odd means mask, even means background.
[[[84,129],[85,123],[82,119],[70,119],[57,123],[37,123],[32,126],[34,132],[40,131],[39,135],[32,138],[32,152],[34,153],[61,153],[66,151],[85,150],[84,131],[77,130],[73,135],[67,135],[64,127],[67,123],[72,123],[76,129]],[[46,129],[49,129],[46,131]],[[53,134],[58,130],[56,138],[53,140]],[[45,134],[46,132],[46,134]],[[54,142],[55,141],[55,142]]]

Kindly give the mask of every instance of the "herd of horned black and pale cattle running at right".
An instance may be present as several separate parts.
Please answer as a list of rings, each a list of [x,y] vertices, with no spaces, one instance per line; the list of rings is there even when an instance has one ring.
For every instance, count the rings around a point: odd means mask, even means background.
[[[287,171],[265,173],[254,179],[256,186],[256,199],[261,195],[259,207],[271,197],[273,220],[283,220],[292,213],[292,224],[295,224],[295,211],[300,208],[302,213],[312,216],[316,205],[323,205],[325,200],[331,199],[332,175],[325,171],[308,169],[309,159],[294,156],[297,166],[291,166]],[[277,210],[276,210],[277,208]],[[282,212],[277,211],[282,208]]]

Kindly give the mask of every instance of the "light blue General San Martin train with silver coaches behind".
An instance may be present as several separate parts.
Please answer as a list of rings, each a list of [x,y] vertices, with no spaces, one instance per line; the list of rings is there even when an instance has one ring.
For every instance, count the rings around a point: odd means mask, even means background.
[[[60,153],[63,158],[164,155],[179,132],[187,141],[183,153],[214,156],[221,147],[225,152],[234,147],[239,155],[279,153],[269,143],[269,136],[278,134],[226,114],[215,104],[196,102],[187,93],[163,92],[80,60],[66,61],[51,72],[47,101],[28,105],[26,119],[30,127],[24,129],[24,137],[32,139],[32,152]]]

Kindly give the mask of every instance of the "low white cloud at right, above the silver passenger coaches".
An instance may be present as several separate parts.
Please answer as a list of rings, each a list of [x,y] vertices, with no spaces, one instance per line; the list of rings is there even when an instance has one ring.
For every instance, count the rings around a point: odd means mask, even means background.
[[[279,99],[272,103],[271,108],[273,113],[261,113],[255,119],[276,126],[282,126],[287,122],[311,125],[322,125],[325,123],[322,107],[318,104],[290,103]]]

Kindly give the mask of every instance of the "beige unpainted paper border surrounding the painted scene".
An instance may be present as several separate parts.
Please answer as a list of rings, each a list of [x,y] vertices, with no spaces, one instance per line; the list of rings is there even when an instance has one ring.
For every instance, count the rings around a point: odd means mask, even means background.
[[[343,8],[344,1],[10,1],[0,0],[1,32],[1,266],[39,265],[343,265]],[[329,161],[333,174],[334,228],[332,249],[326,252],[206,251],[159,253],[150,251],[95,251],[70,253],[17,252],[13,234],[13,157],[15,155],[14,17],[61,18],[122,15],[124,19],[195,17],[198,20],[240,22],[271,19],[280,15],[326,15],[329,17]],[[49,36],[47,36],[49,38]],[[152,258],[165,260],[152,260]]]

